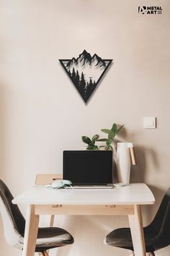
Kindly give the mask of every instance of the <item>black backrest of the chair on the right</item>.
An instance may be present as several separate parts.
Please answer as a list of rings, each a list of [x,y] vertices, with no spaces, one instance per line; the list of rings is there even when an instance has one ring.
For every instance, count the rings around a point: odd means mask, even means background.
[[[170,188],[164,195],[156,216],[148,226],[148,229],[157,234],[158,248],[160,244],[161,247],[166,247],[170,244]]]

